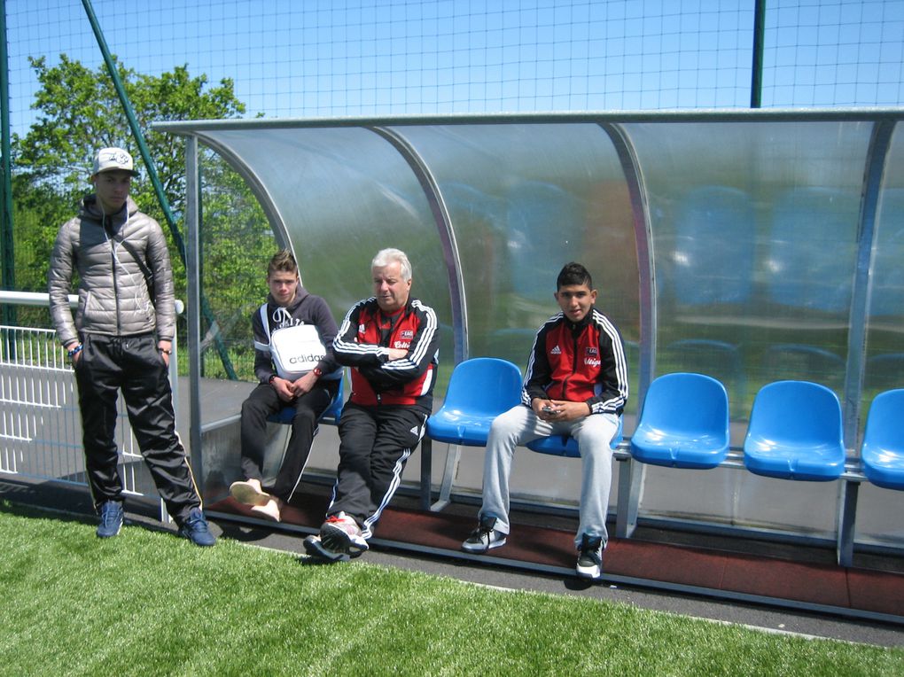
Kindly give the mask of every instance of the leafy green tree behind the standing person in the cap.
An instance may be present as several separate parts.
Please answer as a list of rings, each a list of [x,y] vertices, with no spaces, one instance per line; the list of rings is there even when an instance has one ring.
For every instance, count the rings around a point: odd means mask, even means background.
[[[32,108],[37,119],[24,137],[14,136],[14,203],[17,250],[16,269],[23,275],[21,288],[43,288],[46,277],[34,273],[50,257],[53,237],[61,222],[71,218],[80,199],[90,192],[89,174],[94,152],[102,146],[122,146],[142,161],[137,144],[129,136],[126,114],[116,89],[103,66],[90,70],[80,61],[61,54],[54,66],[46,58],[32,58],[40,84]],[[207,87],[204,75],[192,77],[187,66],[178,66],[162,75],[143,75],[118,64],[119,77],[132,102],[139,127],[154,158],[157,174],[175,214],[184,212],[184,143],[171,135],[155,132],[150,124],[159,120],[235,118],[245,111],[236,99],[232,80]],[[143,176],[146,177],[146,170]],[[149,181],[133,184],[132,197],[141,209],[161,221],[164,212],[156,201]],[[54,218],[55,217],[55,218]],[[47,220],[54,218],[52,223]],[[33,237],[26,227],[40,221],[42,237]],[[165,227],[165,230],[166,229]],[[167,232],[167,236],[170,234]],[[172,238],[170,238],[172,243]],[[171,248],[176,274],[176,292],[184,294],[184,270],[177,252]],[[46,269],[43,270],[46,273]],[[18,277],[18,276],[17,276]]]

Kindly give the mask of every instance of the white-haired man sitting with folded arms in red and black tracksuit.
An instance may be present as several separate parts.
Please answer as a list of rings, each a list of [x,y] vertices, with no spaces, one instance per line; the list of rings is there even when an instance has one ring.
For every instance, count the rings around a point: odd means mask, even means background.
[[[373,293],[345,315],[335,359],[352,367],[352,395],[339,419],[339,468],[319,535],[305,539],[319,559],[348,559],[367,541],[398,488],[433,407],[438,325],[410,297],[411,265],[399,249],[371,263]]]

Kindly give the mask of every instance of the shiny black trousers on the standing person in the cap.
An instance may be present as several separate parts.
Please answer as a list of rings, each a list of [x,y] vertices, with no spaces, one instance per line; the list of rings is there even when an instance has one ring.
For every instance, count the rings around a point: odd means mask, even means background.
[[[201,506],[192,468],[175,431],[169,372],[153,334],[85,334],[75,364],[82,443],[95,507],[122,501],[115,439],[118,390],[126,400],[132,432],[166,510],[180,524]]]

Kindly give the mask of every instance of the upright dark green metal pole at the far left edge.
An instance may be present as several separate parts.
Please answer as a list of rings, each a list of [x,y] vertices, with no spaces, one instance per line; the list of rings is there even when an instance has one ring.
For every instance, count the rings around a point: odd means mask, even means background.
[[[3,178],[0,197],[0,250],[3,252],[2,284],[4,289],[15,288],[15,257],[13,249],[13,162],[9,137],[9,58],[6,53],[6,0],[0,0],[0,135],[3,135]],[[15,306],[3,306],[3,323],[16,324]]]

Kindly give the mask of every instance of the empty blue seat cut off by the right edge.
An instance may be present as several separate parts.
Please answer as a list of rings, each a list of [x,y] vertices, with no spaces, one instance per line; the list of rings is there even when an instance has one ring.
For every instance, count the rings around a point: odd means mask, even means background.
[[[863,475],[876,486],[904,490],[904,389],[876,396],[866,419]]]

